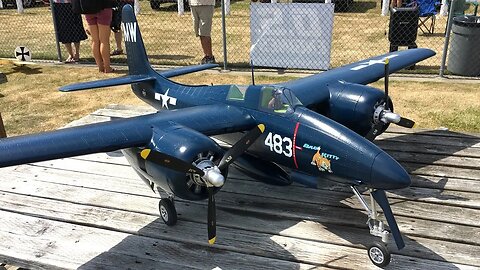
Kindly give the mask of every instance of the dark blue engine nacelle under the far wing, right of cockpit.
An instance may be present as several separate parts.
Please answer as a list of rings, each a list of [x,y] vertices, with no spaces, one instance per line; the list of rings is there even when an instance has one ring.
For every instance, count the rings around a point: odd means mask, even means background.
[[[365,136],[372,127],[375,108],[385,97],[384,92],[348,82],[329,83],[327,88],[330,92],[328,104],[316,104],[309,106],[310,109]]]

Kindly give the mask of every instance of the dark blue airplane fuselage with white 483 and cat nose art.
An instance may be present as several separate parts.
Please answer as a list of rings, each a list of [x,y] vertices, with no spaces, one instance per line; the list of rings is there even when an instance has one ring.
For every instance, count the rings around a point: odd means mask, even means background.
[[[377,177],[381,177],[377,179],[377,187],[380,181],[388,189],[410,184],[400,164],[345,126],[303,106],[283,113],[264,109],[260,105],[261,85],[249,86],[241,100],[229,99],[231,87],[236,86],[187,86],[173,82],[171,85],[132,85],[139,98],[158,110],[222,103],[242,110],[266,126],[265,132],[247,151],[259,159],[318,179],[347,184],[373,185]],[[224,134],[218,138],[234,144],[239,134]],[[376,166],[378,164],[381,167]]]

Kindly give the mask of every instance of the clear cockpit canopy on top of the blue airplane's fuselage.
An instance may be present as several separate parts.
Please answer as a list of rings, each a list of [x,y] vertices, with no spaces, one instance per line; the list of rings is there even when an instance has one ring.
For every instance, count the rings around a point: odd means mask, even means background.
[[[293,92],[285,87],[264,86],[260,96],[260,109],[273,110],[276,113],[291,113],[296,106],[302,105]]]

